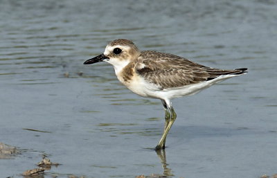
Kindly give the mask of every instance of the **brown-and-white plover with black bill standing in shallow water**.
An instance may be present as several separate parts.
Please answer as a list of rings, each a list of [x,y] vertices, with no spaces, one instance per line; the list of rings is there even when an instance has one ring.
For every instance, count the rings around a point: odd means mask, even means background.
[[[114,66],[118,80],[135,94],[161,100],[166,121],[156,151],[166,148],[166,137],[177,118],[173,98],[197,94],[213,84],[247,73],[247,68],[215,69],[170,53],[140,51],[129,39],[109,42],[104,53],[84,64],[97,62]]]

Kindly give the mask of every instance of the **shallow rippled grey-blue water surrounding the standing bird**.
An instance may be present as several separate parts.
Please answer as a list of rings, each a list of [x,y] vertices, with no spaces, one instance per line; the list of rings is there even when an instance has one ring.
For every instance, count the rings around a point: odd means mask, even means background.
[[[42,154],[62,164],[44,177],[273,175],[276,8],[265,0],[0,1],[0,142],[21,149],[0,159],[1,177],[22,177]],[[160,101],[132,94],[109,64],[82,64],[117,38],[249,73],[173,100],[165,164],[152,150]]]

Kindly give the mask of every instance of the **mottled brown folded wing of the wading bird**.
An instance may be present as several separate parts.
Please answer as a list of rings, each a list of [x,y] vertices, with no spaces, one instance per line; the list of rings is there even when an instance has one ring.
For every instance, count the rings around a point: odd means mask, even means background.
[[[140,66],[143,66],[140,68]],[[183,87],[213,80],[220,75],[244,73],[247,69],[213,69],[183,57],[155,51],[142,51],[136,72],[145,80],[159,85],[161,89]]]

